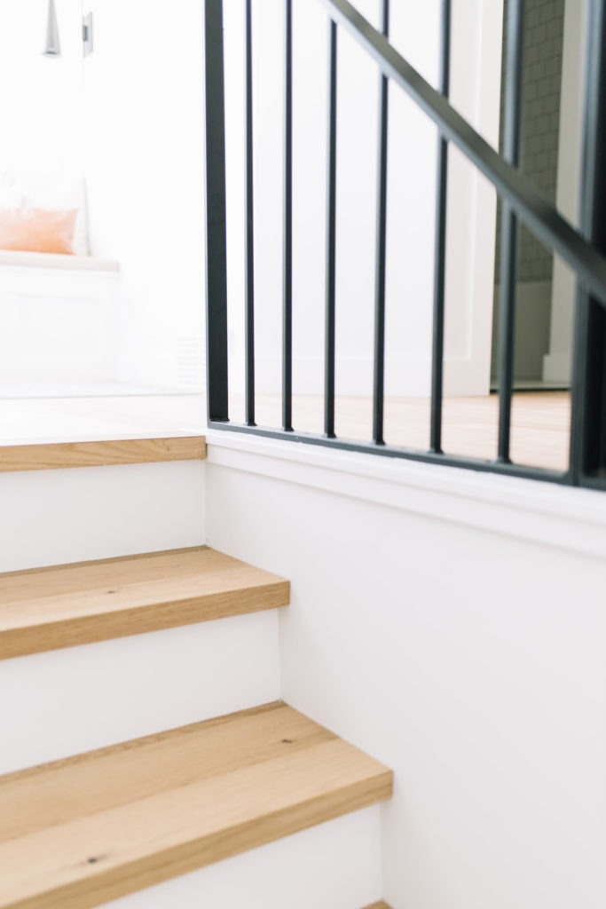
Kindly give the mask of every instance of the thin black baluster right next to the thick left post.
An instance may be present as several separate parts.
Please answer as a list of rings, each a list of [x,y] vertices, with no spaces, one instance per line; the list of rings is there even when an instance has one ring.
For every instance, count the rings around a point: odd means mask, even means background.
[[[245,79],[246,79],[246,239],[245,281],[245,396],[246,424],[254,426],[254,224],[253,224],[253,25],[252,0],[246,0],[245,15]]]

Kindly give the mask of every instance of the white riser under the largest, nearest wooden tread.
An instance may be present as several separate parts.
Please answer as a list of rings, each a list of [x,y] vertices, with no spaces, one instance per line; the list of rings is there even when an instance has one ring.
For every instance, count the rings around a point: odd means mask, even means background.
[[[362,909],[381,898],[380,805],[107,903],[107,909]]]

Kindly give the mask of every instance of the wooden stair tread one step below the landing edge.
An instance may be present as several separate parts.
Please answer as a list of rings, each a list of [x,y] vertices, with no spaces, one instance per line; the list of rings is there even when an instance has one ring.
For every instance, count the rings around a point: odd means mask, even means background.
[[[288,604],[275,574],[207,546],[0,574],[0,659]]]

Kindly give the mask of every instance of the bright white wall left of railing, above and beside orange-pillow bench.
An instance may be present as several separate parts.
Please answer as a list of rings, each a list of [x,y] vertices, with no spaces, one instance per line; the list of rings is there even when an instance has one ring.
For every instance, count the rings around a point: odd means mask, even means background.
[[[94,14],[94,53],[84,61],[83,5]],[[0,204],[14,204],[15,178],[41,192],[84,171],[91,251],[122,265],[120,314],[107,314],[119,358],[111,375],[84,365],[73,377],[199,391],[203,4],[177,0],[168,12],[142,0],[56,0],[56,8],[62,56],[50,59],[47,0],[0,5],[0,77],[11,86],[0,101]]]

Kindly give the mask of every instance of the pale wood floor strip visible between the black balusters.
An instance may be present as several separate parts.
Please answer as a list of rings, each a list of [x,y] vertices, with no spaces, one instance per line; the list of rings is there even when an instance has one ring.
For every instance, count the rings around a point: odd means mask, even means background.
[[[259,425],[280,425],[278,395],[257,395]],[[367,441],[372,434],[373,401],[370,397],[338,397],[335,401],[336,434]],[[243,421],[243,403],[230,401],[234,421]],[[390,445],[426,450],[429,447],[428,398],[385,398],[385,441]],[[497,454],[499,398],[445,398],[443,449],[492,461]],[[512,405],[512,461],[516,464],[566,470],[570,440],[571,401],[568,392],[519,392]],[[302,432],[323,432],[323,398],[301,395],[293,399],[293,424]]]

